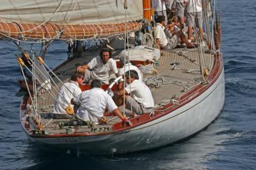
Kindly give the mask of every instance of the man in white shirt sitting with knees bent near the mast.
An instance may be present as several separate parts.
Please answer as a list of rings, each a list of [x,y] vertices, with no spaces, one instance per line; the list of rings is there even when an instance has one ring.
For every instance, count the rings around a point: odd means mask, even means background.
[[[182,30],[173,33],[172,36],[166,37],[164,32],[166,26],[166,20],[163,15],[160,15],[156,19],[156,27],[154,27],[155,37],[156,37],[156,45],[159,50],[172,50],[175,48],[180,41],[184,42],[188,48],[194,48],[195,46],[192,43],[189,43],[188,38],[184,35]],[[168,25],[169,26],[169,25]],[[172,25],[170,25],[172,26]],[[173,25],[174,27],[174,25]]]

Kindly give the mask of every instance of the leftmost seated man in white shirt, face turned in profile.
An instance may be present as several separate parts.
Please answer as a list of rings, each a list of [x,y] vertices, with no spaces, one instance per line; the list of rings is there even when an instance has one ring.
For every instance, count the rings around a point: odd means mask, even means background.
[[[72,116],[68,115],[65,109],[67,106],[74,107],[73,104],[70,104],[70,100],[75,96],[81,94],[82,90],[79,88],[79,85],[82,85],[84,81],[83,73],[79,71],[74,71],[71,74],[70,81],[64,83],[61,86],[60,92],[57,96],[57,101],[54,101],[53,112],[55,114],[55,118],[71,118]]]

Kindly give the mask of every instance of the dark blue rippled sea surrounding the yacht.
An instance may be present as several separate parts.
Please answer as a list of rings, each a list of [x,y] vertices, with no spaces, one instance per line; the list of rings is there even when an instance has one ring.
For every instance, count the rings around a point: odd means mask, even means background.
[[[93,156],[36,146],[19,120],[19,52],[12,42],[1,41],[0,169],[256,169],[256,4],[233,0],[218,7],[226,80],[220,116],[193,138],[139,153]],[[50,67],[65,59],[67,46],[61,41],[52,44],[45,57]]]

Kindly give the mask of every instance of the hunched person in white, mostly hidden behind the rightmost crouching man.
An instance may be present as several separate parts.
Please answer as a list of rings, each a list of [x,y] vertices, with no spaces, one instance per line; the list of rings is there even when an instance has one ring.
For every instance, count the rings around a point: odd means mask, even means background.
[[[118,71],[118,74],[119,74],[120,76],[124,76],[124,73],[125,73],[126,71],[129,71],[129,69],[130,69],[130,70],[136,71],[136,72],[138,73],[139,80],[142,81],[142,76],[141,76],[140,69],[138,69],[138,67],[136,67],[136,66],[133,66],[133,65],[131,64],[131,62],[129,62],[129,57],[128,57],[127,55],[125,55],[125,57],[124,57],[124,56],[120,57],[120,67],[122,67],[122,68],[120,68],[119,71]],[[123,78],[118,82],[118,89],[119,89],[119,90],[120,90],[120,89],[123,89],[123,86],[124,86],[124,85],[123,85],[123,82],[124,82],[124,79],[123,79]]]

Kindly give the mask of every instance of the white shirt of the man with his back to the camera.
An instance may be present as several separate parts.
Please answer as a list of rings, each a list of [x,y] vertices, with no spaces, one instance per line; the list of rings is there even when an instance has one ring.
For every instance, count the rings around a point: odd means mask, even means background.
[[[77,99],[74,99],[74,103],[81,105],[77,110],[77,117],[83,119],[84,121],[98,122],[98,118],[91,115],[97,115],[98,117],[103,117],[105,108],[108,108],[109,112],[112,112],[117,108],[113,99],[106,93],[103,89],[93,88],[86,90],[77,96]],[[81,103],[82,104],[81,104]],[[86,110],[83,106],[90,111]]]

